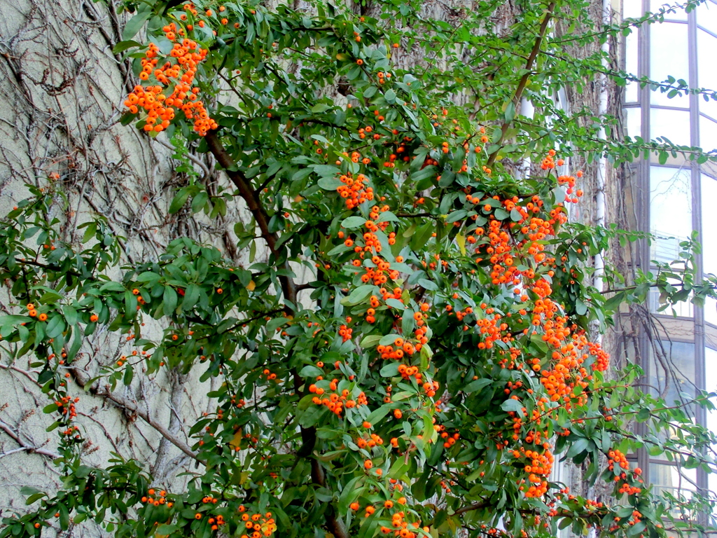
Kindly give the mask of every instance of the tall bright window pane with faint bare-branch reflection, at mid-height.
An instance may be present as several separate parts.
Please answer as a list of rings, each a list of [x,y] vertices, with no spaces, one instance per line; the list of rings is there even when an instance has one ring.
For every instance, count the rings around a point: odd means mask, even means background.
[[[690,171],[650,166],[650,232],[652,260],[678,258],[680,241],[692,234],[692,187]]]

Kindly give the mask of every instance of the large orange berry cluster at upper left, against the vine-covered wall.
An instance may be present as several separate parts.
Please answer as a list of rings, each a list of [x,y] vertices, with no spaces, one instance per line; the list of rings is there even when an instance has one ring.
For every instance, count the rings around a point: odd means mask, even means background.
[[[217,123],[209,118],[204,103],[197,100],[199,88],[192,88],[199,63],[204,60],[207,49],[191,39],[177,41],[176,24],[163,27],[167,39],[174,43],[167,60],[159,67],[158,47],[150,43],[145,58],[142,60],[141,80],[149,80],[153,76],[161,85],[150,85],[144,88],[137,85],[125,100],[130,113],[136,114],[140,109],[147,113],[145,131],[164,131],[174,119],[175,110],[182,110],[188,120],[194,120],[194,131],[199,136],[206,135],[209,129],[217,128]],[[179,32],[183,30],[179,29]],[[163,93],[164,88],[176,81],[169,95]]]

